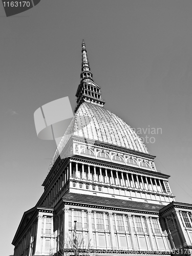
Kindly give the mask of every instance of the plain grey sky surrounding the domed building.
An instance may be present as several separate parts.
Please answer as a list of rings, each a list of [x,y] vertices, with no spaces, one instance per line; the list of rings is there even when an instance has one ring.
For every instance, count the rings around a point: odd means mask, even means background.
[[[13,254],[56,148],[37,137],[34,112],[66,96],[74,110],[82,39],[105,108],[148,137],[176,201],[192,203],[191,11],[187,0],[41,0],[6,17],[0,3],[2,255]]]

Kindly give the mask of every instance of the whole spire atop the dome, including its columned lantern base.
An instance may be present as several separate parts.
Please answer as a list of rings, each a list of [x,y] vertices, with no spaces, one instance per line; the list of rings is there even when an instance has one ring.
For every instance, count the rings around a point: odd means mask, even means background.
[[[101,99],[101,88],[93,81],[93,74],[90,71],[87,56],[86,44],[82,40],[82,63],[81,63],[81,82],[77,88],[77,105],[75,112],[83,102],[103,106],[105,101]]]

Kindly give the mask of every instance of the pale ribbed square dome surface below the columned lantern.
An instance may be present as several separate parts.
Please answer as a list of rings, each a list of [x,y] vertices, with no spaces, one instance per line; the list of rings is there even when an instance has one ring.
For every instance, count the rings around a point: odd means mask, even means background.
[[[72,135],[149,154],[145,144],[130,125],[102,106],[83,102],[63,135],[49,169]]]

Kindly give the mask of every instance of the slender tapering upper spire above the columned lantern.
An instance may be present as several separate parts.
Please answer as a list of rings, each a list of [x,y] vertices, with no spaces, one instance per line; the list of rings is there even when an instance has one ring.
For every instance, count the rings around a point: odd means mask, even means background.
[[[82,63],[81,63],[81,82],[93,81],[93,74],[90,71],[89,60],[87,56],[86,44],[82,40]]]

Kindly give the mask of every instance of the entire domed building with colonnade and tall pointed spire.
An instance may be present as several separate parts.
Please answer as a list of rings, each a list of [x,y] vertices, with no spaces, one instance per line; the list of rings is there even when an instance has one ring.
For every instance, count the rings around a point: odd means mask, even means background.
[[[75,115],[42,183],[44,193],[20,221],[14,256],[60,255],[61,247],[63,255],[70,249],[69,255],[81,255],[84,248],[86,255],[190,254],[192,205],[175,202],[155,156],[104,109],[84,41],[80,78]]]

